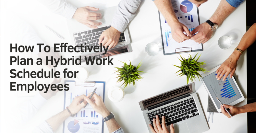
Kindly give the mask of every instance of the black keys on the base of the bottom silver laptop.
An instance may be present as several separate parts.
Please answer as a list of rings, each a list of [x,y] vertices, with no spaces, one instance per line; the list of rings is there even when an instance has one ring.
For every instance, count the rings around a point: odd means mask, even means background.
[[[182,120],[186,120],[199,115],[194,98],[189,98],[180,102],[176,102],[172,105],[153,110],[147,113],[150,124],[153,127],[153,118],[156,119],[156,115],[159,117],[160,124],[162,124],[162,116],[164,115],[164,121],[166,126],[172,123],[177,123]]]

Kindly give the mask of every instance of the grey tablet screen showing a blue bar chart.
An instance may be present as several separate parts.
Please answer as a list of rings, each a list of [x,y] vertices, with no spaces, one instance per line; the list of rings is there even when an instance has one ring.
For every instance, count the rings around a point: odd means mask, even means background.
[[[233,79],[229,78],[229,75],[224,81],[222,81],[222,78],[218,81],[216,79],[217,74],[215,74],[215,72],[205,76],[203,80],[219,109],[220,103],[216,97],[222,102],[222,104],[229,104],[240,99],[242,96],[239,93]]]

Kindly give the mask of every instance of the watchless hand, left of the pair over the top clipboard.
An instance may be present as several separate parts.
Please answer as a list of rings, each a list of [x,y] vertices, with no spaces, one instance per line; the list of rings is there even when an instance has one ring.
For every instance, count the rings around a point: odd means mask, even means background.
[[[188,28],[180,23],[179,21],[174,21],[170,23],[171,25],[168,25],[171,27],[172,30],[172,38],[177,41],[177,42],[182,42],[188,39],[191,39],[191,37],[188,36],[192,36],[188,30]],[[187,35],[185,35],[183,32],[186,32]]]

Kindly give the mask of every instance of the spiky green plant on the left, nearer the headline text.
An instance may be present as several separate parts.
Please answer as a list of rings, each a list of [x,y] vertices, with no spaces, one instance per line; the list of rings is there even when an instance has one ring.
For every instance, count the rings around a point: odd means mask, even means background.
[[[122,62],[122,61],[120,61],[120,62]],[[137,67],[131,65],[131,62],[129,65],[127,65],[126,62],[122,62],[122,63],[124,63],[124,66],[122,68],[116,67],[118,69],[116,72],[119,73],[119,74],[117,74],[118,77],[116,77],[116,78],[118,78],[117,83],[124,81],[124,83],[122,84],[122,85],[124,85],[124,88],[125,87],[127,88],[128,84],[130,86],[131,83],[135,87],[135,83],[134,83],[135,80],[138,81],[139,79],[142,79],[139,74],[144,73],[142,71],[138,71],[138,68],[140,67],[141,62],[138,64]]]

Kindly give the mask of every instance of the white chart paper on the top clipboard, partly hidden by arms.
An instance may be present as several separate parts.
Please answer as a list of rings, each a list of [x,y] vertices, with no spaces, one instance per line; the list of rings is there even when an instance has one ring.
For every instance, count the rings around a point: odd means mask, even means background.
[[[198,8],[188,0],[171,0],[173,10],[180,23],[187,26],[191,32],[199,26]],[[202,51],[203,44],[198,44],[193,40],[185,40],[181,43],[172,38],[172,31],[164,16],[159,12],[159,20],[162,35],[162,45],[164,55],[175,54],[175,49],[190,48],[191,52]],[[184,34],[186,34],[184,32]],[[177,51],[176,51],[177,52]]]

